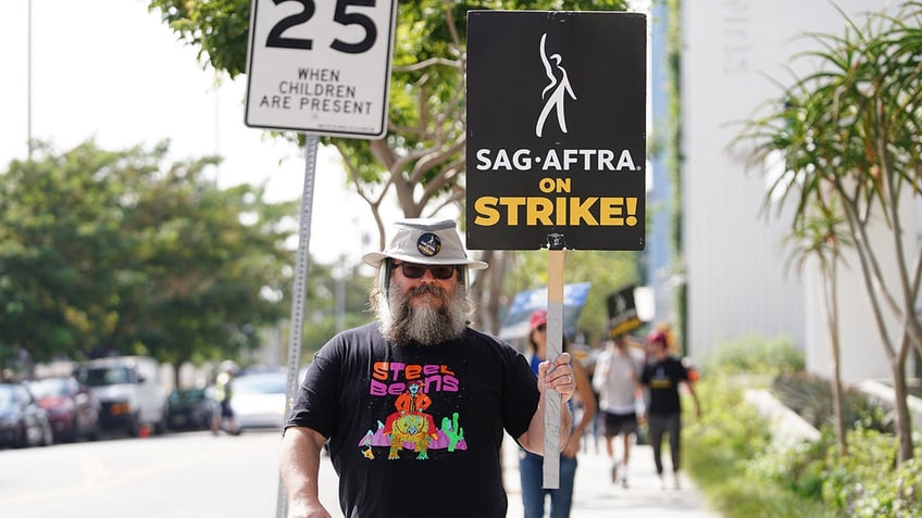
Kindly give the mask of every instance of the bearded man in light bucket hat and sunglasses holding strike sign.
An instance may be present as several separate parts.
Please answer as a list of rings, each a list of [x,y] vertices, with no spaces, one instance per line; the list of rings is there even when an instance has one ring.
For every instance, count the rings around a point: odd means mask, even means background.
[[[543,454],[551,389],[566,444],[570,355],[543,362],[536,377],[511,345],[469,327],[469,273],[487,264],[468,258],[450,219],[397,222],[388,247],[363,260],[379,271],[377,320],[333,337],[308,368],[282,439],[288,517],[331,516],[317,497],[327,441],[347,518],[504,517],[503,431]],[[410,386],[432,419],[396,405]]]

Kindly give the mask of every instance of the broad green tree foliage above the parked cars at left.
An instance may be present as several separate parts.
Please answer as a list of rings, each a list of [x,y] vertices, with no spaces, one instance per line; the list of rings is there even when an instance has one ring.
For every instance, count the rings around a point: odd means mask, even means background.
[[[0,182],[0,346],[179,364],[256,348],[284,317],[291,203],[219,190],[214,157],[162,165],[165,143],[38,151]]]

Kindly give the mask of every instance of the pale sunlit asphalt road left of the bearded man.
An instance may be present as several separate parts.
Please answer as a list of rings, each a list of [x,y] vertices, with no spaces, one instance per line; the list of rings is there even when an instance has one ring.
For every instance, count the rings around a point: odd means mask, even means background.
[[[203,431],[0,450],[0,516],[276,517],[279,440]],[[321,501],[337,516],[329,463],[322,477]]]

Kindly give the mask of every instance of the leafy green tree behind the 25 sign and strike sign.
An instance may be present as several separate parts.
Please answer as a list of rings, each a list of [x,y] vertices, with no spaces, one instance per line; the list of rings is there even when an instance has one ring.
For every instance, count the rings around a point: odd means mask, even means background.
[[[183,41],[198,48],[203,64],[232,78],[246,71],[250,3],[148,2]],[[626,7],[624,0],[399,2],[386,137],[322,139],[339,151],[348,184],[369,205],[377,224],[378,244],[386,244],[379,209],[390,193],[407,217],[433,215],[446,205],[463,210],[468,11],[613,11]],[[287,137],[303,139],[301,135]],[[495,332],[500,300],[510,293],[502,281],[508,269],[501,252],[487,252],[484,260],[490,269],[473,279],[471,292],[474,299],[485,301],[478,312],[483,328]]]

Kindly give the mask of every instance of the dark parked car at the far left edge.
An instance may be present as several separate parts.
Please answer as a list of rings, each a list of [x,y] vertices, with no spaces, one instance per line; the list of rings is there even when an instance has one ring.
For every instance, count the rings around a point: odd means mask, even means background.
[[[0,383],[0,444],[47,446],[54,442],[48,413],[25,383]]]

